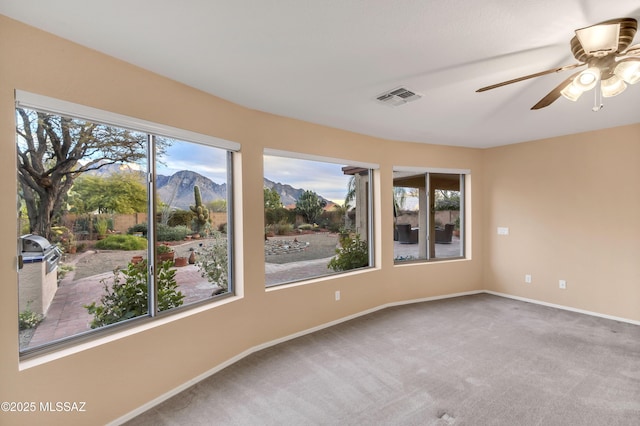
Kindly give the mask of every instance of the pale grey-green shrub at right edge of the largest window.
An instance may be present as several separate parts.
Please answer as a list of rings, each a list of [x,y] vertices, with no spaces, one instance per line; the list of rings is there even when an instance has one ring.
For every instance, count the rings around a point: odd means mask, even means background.
[[[220,290],[213,294],[228,291],[229,261],[227,239],[218,231],[214,231],[212,239],[198,250],[196,266],[202,278],[217,285]]]

